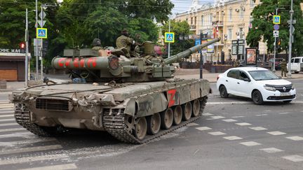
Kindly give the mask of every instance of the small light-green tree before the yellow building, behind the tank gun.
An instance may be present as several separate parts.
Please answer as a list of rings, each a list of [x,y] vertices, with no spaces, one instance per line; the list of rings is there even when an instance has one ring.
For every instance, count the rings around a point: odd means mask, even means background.
[[[180,36],[188,36],[189,34],[194,34],[189,29],[190,26],[186,21],[170,21],[170,31],[175,32],[175,43],[170,44],[170,48],[173,49],[172,55],[176,55],[177,53],[194,46],[193,40],[180,40]],[[168,23],[163,26],[163,32],[168,32]]]

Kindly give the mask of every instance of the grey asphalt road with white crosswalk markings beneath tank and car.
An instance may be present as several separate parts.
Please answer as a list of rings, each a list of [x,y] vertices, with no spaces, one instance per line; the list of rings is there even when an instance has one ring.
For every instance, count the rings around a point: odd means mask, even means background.
[[[262,106],[221,99],[212,84],[203,118],[140,146],[105,132],[34,136],[0,95],[0,169],[302,169],[303,80],[292,82],[295,101]]]

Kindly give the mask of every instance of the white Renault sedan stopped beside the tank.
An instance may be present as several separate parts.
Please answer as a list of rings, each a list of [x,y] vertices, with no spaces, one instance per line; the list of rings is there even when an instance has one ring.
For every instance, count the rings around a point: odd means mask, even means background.
[[[296,98],[291,82],[260,67],[238,67],[225,71],[217,77],[217,90],[223,98],[234,94],[249,97],[255,104],[263,104],[264,101],[289,103]]]

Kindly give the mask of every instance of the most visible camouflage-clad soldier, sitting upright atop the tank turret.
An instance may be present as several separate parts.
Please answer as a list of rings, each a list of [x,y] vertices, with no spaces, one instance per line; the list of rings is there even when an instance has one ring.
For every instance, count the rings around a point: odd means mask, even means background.
[[[124,48],[126,50],[126,57],[138,57],[137,52],[132,50],[132,45],[135,46],[135,40],[129,37],[128,31],[123,29],[121,36],[116,39],[116,47]]]

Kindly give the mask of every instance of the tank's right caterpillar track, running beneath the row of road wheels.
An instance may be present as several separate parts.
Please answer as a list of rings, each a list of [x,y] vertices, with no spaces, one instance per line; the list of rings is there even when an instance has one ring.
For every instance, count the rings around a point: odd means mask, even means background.
[[[123,141],[125,143],[133,143],[133,144],[149,143],[150,141],[153,141],[154,139],[157,139],[160,136],[173,132],[175,129],[184,127],[190,122],[194,122],[199,118],[201,118],[203,110],[206,106],[207,99],[208,97],[202,98],[200,105],[200,114],[198,116],[191,117],[190,120],[183,121],[180,123],[180,125],[175,125],[173,127],[170,127],[170,129],[161,130],[156,135],[147,135],[142,141],[137,139],[135,136],[133,136],[133,134],[130,134],[130,132],[126,130],[126,125],[124,124],[124,118],[125,118],[124,113],[120,113],[120,114],[112,113],[112,115],[109,115],[109,113],[105,113],[105,115],[103,116],[103,125],[107,130],[107,132],[109,132],[109,134],[112,134],[112,136],[114,136],[116,139],[119,139],[120,141]]]

